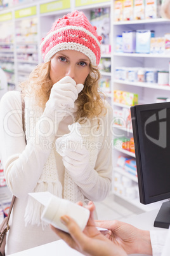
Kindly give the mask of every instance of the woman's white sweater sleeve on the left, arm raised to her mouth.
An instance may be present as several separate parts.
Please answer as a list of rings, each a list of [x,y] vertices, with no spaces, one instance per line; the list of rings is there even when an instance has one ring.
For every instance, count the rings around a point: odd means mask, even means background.
[[[41,123],[41,129],[46,129],[45,123],[44,127]],[[46,139],[53,141],[54,136]],[[8,188],[16,197],[25,197],[36,187],[50,150],[34,143],[34,139],[25,144],[20,92],[7,92],[1,99],[0,141],[0,159]]]

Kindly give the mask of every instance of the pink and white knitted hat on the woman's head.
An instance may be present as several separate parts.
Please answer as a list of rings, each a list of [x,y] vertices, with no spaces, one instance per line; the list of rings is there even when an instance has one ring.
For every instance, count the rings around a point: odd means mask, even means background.
[[[42,38],[40,50],[44,62],[48,62],[56,52],[76,50],[84,53],[97,66],[100,62],[101,36],[81,11],[74,11],[53,24],[45,38]]]

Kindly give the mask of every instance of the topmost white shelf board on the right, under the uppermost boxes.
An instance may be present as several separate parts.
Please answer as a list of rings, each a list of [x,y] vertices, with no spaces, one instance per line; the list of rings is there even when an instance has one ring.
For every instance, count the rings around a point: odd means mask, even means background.
[[[148,24],[148,23],[169,23],[170,20],[166,18],[151,18],[147,20],[124,20],[120,22],[113,22],[113,25],[129,25],[129,24]]]

